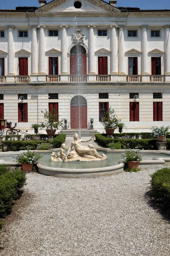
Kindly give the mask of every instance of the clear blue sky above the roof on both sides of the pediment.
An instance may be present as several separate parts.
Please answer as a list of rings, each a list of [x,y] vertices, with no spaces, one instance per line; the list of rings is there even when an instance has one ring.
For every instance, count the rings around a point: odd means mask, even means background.
[[[47,0],[47,3],[50,1]],[[109,0],[105,1],[109,2]],[[16,6],[39,6],[39,3],[38,0],[0,0],[0,9],[15,9]],[[170,9],[170,0],[117,0],[116,6],[139,7],[140,9]]]

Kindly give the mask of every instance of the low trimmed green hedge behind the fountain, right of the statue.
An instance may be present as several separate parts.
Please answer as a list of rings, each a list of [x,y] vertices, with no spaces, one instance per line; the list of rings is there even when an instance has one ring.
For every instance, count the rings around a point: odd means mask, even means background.
[[[157,139],[150,139],[150,140],[143,140],[143,139],[114,139],[114,138],[108,138],[105,134],[95,134],[96,142],[105,147],[108,148],[108,144],[111,142],[121,142],[122,149],[125,148],[139,148],[139,149],[157,149],[156,141]]]

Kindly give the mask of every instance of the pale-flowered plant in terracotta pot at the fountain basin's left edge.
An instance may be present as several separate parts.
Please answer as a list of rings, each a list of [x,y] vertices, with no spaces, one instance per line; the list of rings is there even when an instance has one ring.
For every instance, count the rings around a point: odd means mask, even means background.
[[[22,164],[23,172],[31,172],[33,169],[33,165],[40,160],[42,154],[38,154],[35,151],[27,150],[26,152],[22,152],[18,155],[14,155],[17,163]]]

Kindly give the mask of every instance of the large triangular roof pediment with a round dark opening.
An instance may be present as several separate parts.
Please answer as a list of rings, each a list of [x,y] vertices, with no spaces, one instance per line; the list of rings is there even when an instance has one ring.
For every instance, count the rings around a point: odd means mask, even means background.
[[[35,12],[120,12],[116,7],[101,0],[83,0],[81,8],[75,8],[74,3],[73,0],[53,0]]]

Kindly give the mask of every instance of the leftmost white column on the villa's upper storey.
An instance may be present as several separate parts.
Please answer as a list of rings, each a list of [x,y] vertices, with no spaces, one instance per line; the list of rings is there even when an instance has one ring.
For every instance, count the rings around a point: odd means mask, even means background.
[[[8,28],[8,75],[14,73],[14,26],[6,26]]]

